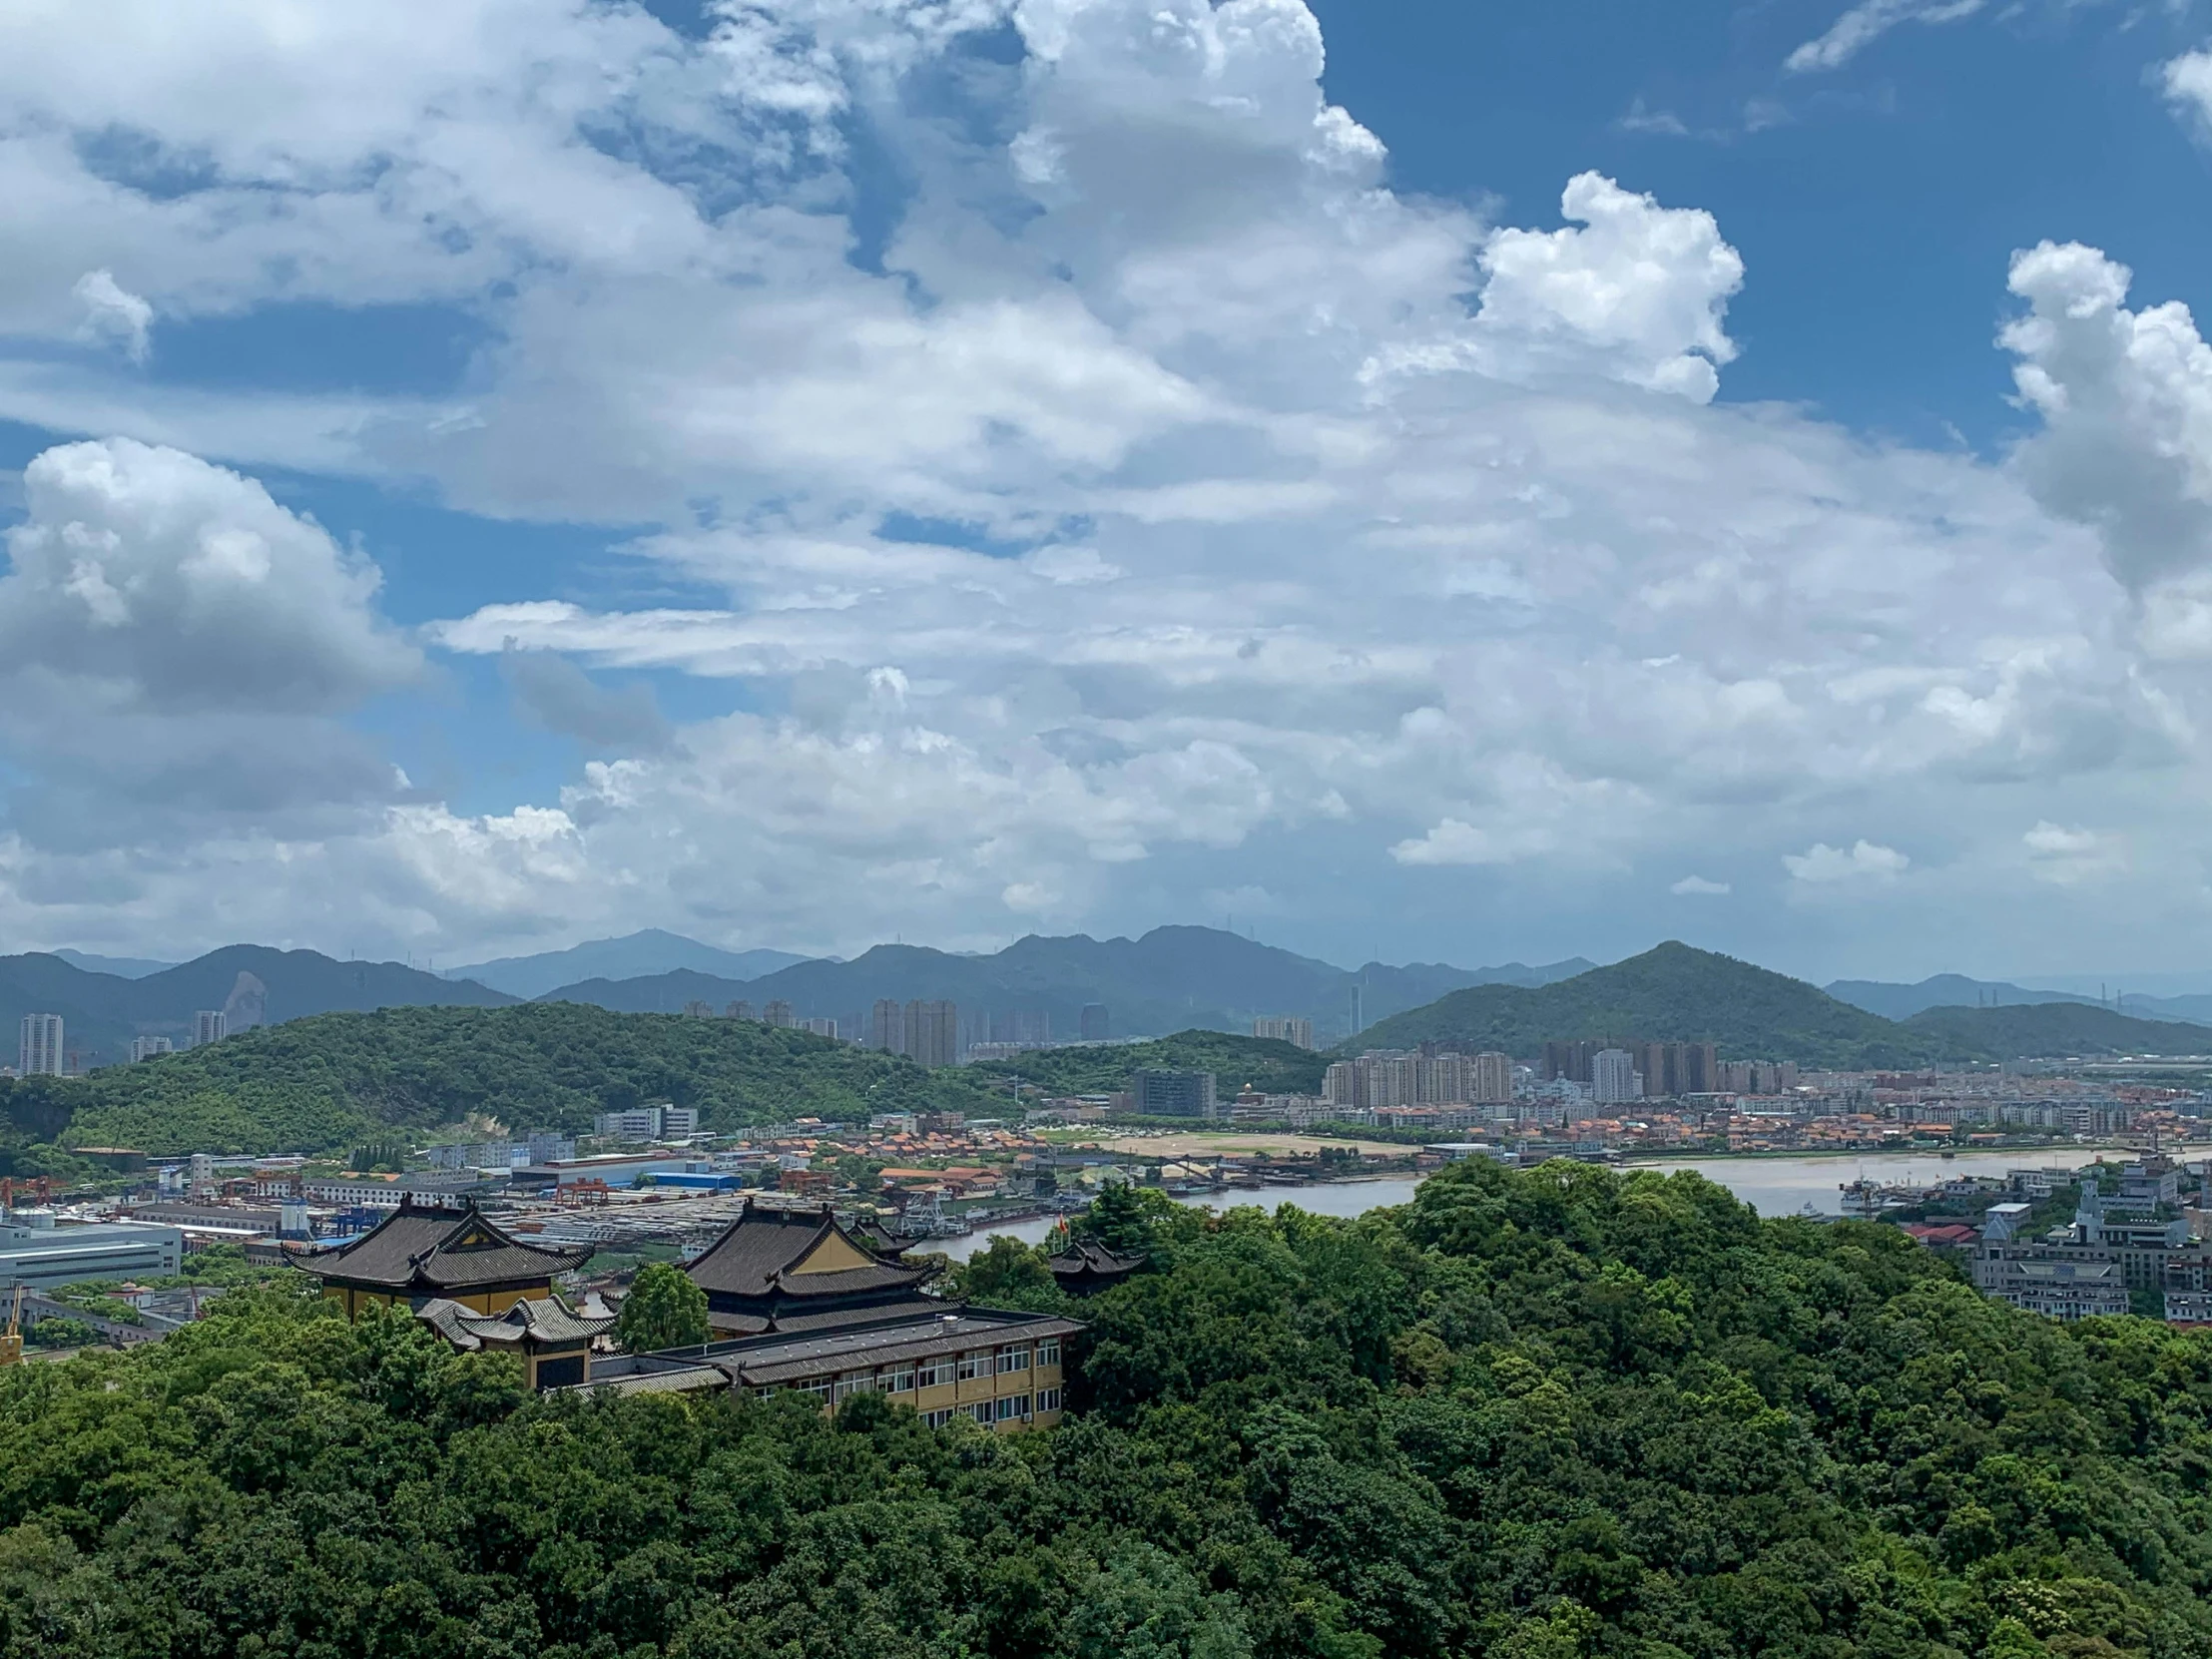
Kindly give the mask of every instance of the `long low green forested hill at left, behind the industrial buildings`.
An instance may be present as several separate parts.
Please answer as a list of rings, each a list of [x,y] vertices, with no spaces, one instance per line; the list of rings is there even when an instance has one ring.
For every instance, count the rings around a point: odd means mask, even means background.
[[[71,1146],[148,1152],[314,1152],[380,1126],[429,1128],[469,1113],[518,1130],[577,1130],[593,1113],[655,1099],[699,1106],[712,1128],[975,1106],[960,1073],[931,1075],[803,1031],[571,1002],[325,1013],[20,1093],[49,1119],[55,1104],[69,1108]],[[0,1110],[7,1102],[0,1095]]]

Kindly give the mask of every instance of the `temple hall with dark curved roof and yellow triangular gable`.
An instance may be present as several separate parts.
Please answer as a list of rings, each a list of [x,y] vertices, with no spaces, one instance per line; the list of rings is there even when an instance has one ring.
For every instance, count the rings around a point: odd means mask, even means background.
[[[706,1292],[708,1325],[723,1336],[803,1332],[854,1321],[936,1314],[922,1294],[938,1270],[883,1256],[827,1208],[770,1208],[745,1199],[737,1221],[684,1272]]]

